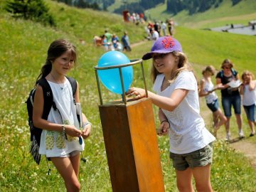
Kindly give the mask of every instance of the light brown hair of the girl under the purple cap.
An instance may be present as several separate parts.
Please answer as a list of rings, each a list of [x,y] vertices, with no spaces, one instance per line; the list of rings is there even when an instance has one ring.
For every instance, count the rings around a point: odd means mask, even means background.
[[[193,72],[191,64],[188,63],[188,58],[184,53],[179,51],[174,51],[174,52],[171,52],[171,54],[173,54],[175,58],[178,58],[178,69],[172,74],[171,79],[169,80],[170,83],[174,82],[174,80],[178,77],[178,74],[180,74],[184,70]],[[156,70],[153,64],[151,68],[151,79],[153,80],[153,82],[155,82],[156,76],[159,74],[160,74],[159,71]]]

